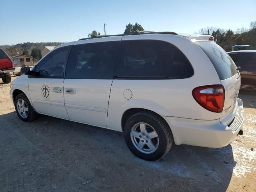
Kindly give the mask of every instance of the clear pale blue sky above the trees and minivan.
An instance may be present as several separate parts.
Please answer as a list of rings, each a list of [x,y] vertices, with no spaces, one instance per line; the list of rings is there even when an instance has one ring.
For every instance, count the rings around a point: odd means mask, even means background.
[[[194,33],[215,26],[250,27],[256,0],[0,0],[0,45],[70,42],[92,30],[122,34],[130,22],[144,30]]]

